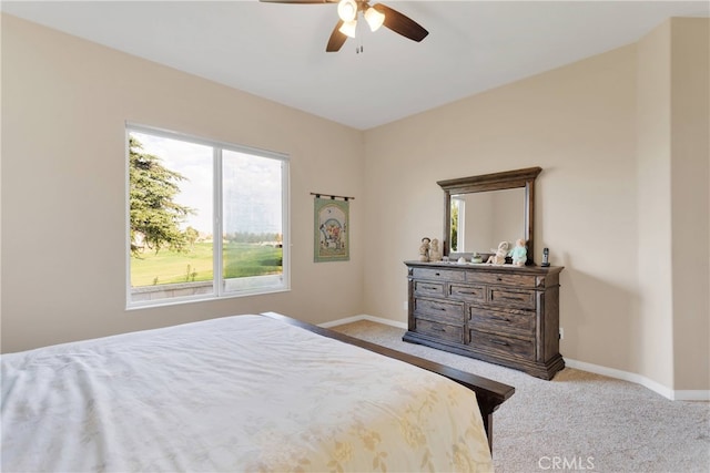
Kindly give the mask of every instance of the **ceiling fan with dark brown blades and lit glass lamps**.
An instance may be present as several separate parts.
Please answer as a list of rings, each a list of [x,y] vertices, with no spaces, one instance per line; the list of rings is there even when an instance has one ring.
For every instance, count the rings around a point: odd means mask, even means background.
[[[426,38],[429,32],[422,28],[419,23],[410,18],[399,13],[396,10],[383,4],[375,3],[369,6],[368,0],[260,0],[266,3],[337,3],[338,22],[331,33],[328,44],[325,48],[327,52],[339,51],[347,38],[355,38],[358,13],[369,25],[372,31],[376,31],[383,24],[395,33],[402,34],[412,41],[419,42]]]

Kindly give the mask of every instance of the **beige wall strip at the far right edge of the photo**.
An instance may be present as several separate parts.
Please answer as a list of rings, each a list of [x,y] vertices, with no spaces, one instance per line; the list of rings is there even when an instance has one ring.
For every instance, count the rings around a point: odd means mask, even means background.
[[[671,20],[673,385],[710,387],[710,28]]]

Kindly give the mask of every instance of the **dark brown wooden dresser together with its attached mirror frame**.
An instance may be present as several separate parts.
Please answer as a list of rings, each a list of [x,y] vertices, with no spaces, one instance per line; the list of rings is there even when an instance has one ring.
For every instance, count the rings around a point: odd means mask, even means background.
[[[477,249],[459,240],[457,253],[448,251],[453,236],[470,234],[468,228],[462,232],[458,227],[452,233],[452,214],[462,213],[460,202],[456,203],[458,212],[450,212],[452,196],[460,200],[460,195],[478,192],[523,191],[519,202],[513,205],[524,208],[520,212],[524,222],[519,224],[525,238],[516,243],[526,246],[526,251],[516,255],[515,265],[405,261],[408,279],[405,341],[503,364],[546,380],[565,368],[559,353],[559,275],[564,268],[539,267],[532,260],[535,178],[541,171],[531,167],[438,183],[446,204],[444,255],[452,261],[459,257],[470,260],[465,255],[476,254]],[[485,202],[489,198],[486,196]],[[466,202],[467,206],[475,205]],[[497,227],[507,228],[503,224]],[[527,259],[521,261],[521,257]]]

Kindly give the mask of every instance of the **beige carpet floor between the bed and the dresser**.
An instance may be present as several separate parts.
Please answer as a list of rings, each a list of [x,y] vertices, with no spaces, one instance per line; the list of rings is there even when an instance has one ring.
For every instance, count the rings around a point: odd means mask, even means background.
[[[708,472],[710,403],[669,401],[641,385],[570,368],[552,381],[402,341],[371,321],[335,330],[505,382],[494,414],[496,472]],[[564,354],[564,353],[562,353]]]

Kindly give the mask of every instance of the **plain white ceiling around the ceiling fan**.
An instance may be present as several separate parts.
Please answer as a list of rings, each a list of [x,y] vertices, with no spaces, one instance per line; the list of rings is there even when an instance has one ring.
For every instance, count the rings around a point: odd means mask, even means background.
[[[371,3],[379,1],[371,0]],[[708,1],[390,1],[429,31],[325,45],[335,4],[2,1],[3,12],[359,130],[637,41]]]

